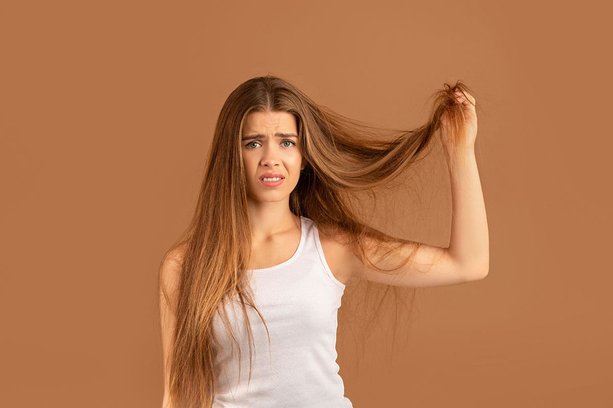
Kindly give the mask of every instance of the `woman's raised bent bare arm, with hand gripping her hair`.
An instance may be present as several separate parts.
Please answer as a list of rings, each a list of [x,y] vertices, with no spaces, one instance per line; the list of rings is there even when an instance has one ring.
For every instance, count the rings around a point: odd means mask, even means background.
[[[384,269],[391,269],[414,253],[412,261],[404,269],[394,273],[384,273],[362,264],[348,250],[341,252],[341,265],[348,270],[346,276],[354,276],[378,283],[394,286],[443,286],[482,279],[489,272],[489,232],[485,217],[485,202],[481,190],[481,180],[474,155],[474,141],[477,135],[477,116],[474,97],[456,92],[456,99],[464,107],[466,120],[466,149],[461,154],[465,161],[454,172],[449,172],[452,193],[451,239],[448,248],[436,247],[425,243],[418,244],[408,240],[396,239],[399,247],[383,256],[377,251],[367,251],[368,258]],[[443,117],[443,146],[449,132],[445,132],[446,119]],[[447,166],[450,153],[446,149]],[[451,167],[449,167],[451,170]],[[368,241],[368,239],[367,239]],[[370,242],[373,244],[376,242]],[[374,248],[376,245],[367,245]]]

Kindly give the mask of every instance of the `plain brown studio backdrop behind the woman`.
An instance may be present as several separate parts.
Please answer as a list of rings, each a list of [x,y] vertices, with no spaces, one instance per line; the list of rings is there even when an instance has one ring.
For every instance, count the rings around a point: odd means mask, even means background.
[[[356,408],[611,403],[611,10],[375,4],[2,3],[2,406],[161,406],[158,264],[221,105],[266,73],[382,126],[458,79],[481,109],[489,276],[419,289],[397,368],[339,343]],[[387,232],[447,245],[441,160]]]

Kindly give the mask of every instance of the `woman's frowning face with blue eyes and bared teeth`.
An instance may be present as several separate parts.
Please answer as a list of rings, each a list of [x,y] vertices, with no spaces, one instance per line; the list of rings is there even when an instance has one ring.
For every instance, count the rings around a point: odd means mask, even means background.
[[[306,164],[298,146],[295,117],[287,112],[250,113],[243,124],[241,143],[249,198],[289,199]],[[275,173],[265,177],[273,180],[262,180],[267,172]],[[277,177],[283,178],[277,181]]]

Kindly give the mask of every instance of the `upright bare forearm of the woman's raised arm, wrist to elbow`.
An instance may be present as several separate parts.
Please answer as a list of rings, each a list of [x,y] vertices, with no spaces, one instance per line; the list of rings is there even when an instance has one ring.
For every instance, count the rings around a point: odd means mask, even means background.
[[[450,172],[452,221],[449,255],[471,276],[489,270],[489,232],[485,202],[474,149],[465,150],[465,162]]]

